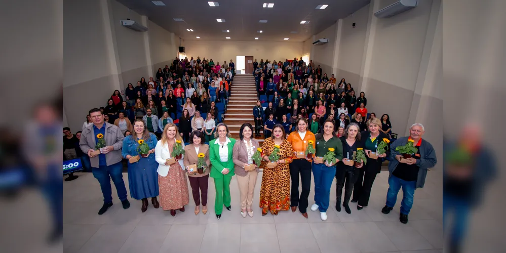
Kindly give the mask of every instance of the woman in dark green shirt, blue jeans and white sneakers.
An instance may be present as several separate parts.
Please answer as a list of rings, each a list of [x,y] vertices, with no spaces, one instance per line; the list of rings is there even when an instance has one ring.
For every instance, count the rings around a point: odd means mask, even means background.
[[[314,115],[314,114],[313,114]],[[322,221],[327,220],[327,209],[330,202],[330,187],[336,174],[336,163],[342,159],[342,143],[339,138],[333,135],[335,128],[334,121],[326,120],[323,124],[323,133],[315,136],[316,138],[316,157],[323,157],[327,152],[333,152],[336,160],[328,163],[324,161],[319,163],[317,158],[313,158],[313,176],[315,179],[315,204],[311,210],[315,212],[320,210]]]

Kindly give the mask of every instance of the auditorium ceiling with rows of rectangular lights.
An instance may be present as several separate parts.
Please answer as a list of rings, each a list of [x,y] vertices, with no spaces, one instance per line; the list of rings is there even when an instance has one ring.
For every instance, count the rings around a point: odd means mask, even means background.
[[[219,7],[210,7],[204,0],[162,0],[166,6],[155,6],[150,0],[116,0],[149,20],[174,32],[185,40],[254,40],[305,41],[354,13],[370,0],[214,0]],[[263,8],[274,3],[274,8]],[[324,10],[318,5],[328,5]],[[182,18],[184,22],[176,22]],[[225,19],[219,23],[216,19]],[[260,23],[259,20],[267,20]],[[308,24],[300,24],[307,20]],[[188,32],[186,29],[193,29]],[[229,30],[230,32],[223,32]],[[257,31],[262,30],[262,33]],[[294,33],[296,32],[296,33]]]

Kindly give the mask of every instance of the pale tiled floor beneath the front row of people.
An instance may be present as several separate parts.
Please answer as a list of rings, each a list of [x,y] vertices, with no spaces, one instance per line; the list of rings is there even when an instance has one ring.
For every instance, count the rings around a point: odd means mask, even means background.
[[[388,189],[387,172],[376,178],[369,206],[352,214],[336,212],[335,184],[331,189],[328,220],[318,212],[282,212],[278,216],[261,216],[258,208],[261,175],[253,200],[255,215],[242,218],[239,211],[239,189],[235,177],[230,184],[232,211],[223,211],[220,220],[214,214],[214,184],[210,179],[207,215],[193,214],[193,200],[186,212],[172,217],[161,208],[149,206],[141,213],[141,202],[130,199],[127,210],[115,195],[114,205],[102,216],[98,181],[91,173],[81,173],[77,180],[64,182],[63,252],[443,252],[442,183],[440,171],[429,172],[425,187],[417,189],[408,224],[399,222],[399,204],[388,215],[381,213]],[[128,190],[127,174],[124,173]],[[314,188],[309,197],[313,204]],[[309,210],[309,208],[308,208]]]

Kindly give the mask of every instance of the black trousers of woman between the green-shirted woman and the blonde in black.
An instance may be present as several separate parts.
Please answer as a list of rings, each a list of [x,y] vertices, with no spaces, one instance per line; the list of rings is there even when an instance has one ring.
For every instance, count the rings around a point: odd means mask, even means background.
[[[355,166],[339,166],[336,170],[336,200],[341,204],[342,188],[344,187],[344,199],[342,205],[348,205],[352,197],[353,186],[357,180],[360,169]]]

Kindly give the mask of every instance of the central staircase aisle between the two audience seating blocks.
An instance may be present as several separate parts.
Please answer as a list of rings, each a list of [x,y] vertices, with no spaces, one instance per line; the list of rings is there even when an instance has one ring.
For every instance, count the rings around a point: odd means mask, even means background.
[[[239,130],[245,122],[249,122],[255,128],[253,107],[257,99],[255,77],[251,74],[235,75],[232,81],[232,91],[230,92],[224,120],[232,138],[239,140]],[[254,136],[255,130],[253,129],[253,138]],[[258,142],[262,145],[263,137],[259,138]]]

